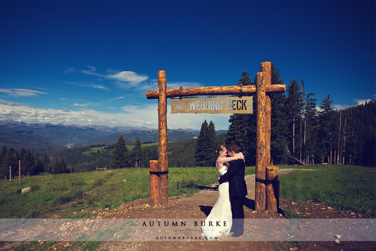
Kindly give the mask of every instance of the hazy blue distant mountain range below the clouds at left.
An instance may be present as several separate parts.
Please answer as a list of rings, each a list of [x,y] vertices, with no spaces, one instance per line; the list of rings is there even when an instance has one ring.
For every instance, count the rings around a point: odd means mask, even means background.
[[[226,131],[218,131],[223,134]],[[145,127],[78,126],[77,124],[25,123],[0,120],[0,147],[29,149],[40,152],[58,148],[87,145],[116,144],[120,134],[127,145],[136,138],[141,142],[158,142],[158,130]],[[198,137],[200,130],[168,130],[168,141],[180,141]]]

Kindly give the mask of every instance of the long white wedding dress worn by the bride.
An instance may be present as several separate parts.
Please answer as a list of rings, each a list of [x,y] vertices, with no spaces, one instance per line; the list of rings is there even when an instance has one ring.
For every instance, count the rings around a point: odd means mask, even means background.
[[[228,165],[228,163],[225,163],[224,166],[218,170],[220,176],[227,172]],[[218,190],[218,200],[205,222],[202,222],[201,235],[207,239],[214,239],[222,234],[230,234],[232,226],[229,182],[225,181],[220,184]],[[217,224],[217,222],[219,223]]]

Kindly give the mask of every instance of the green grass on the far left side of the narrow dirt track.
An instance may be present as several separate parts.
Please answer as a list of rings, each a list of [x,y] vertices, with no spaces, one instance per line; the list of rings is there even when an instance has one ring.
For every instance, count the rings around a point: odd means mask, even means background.
[[[0,181],[0,217],[34,218],[51,208],[81,198],[82,194],[111,177],[113,171],[37,175],[11,182]],[[21,194],[25,187],[31,191]]]

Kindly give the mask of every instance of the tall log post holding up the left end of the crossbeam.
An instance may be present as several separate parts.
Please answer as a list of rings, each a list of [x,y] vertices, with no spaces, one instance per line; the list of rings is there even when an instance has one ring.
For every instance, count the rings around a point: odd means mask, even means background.
[[[161,172],[160,204],[168,204],[168,162],[167,162],[167,82],[166,72],[158,71],[158,169]]]

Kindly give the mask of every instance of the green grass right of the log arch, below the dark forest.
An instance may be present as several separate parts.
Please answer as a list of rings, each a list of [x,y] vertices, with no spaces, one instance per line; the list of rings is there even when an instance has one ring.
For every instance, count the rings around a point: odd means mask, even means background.
[[[281,194],[296,202],[311,200],[376,215],[374,168],[318,165],[315,171],[280,174]]]

